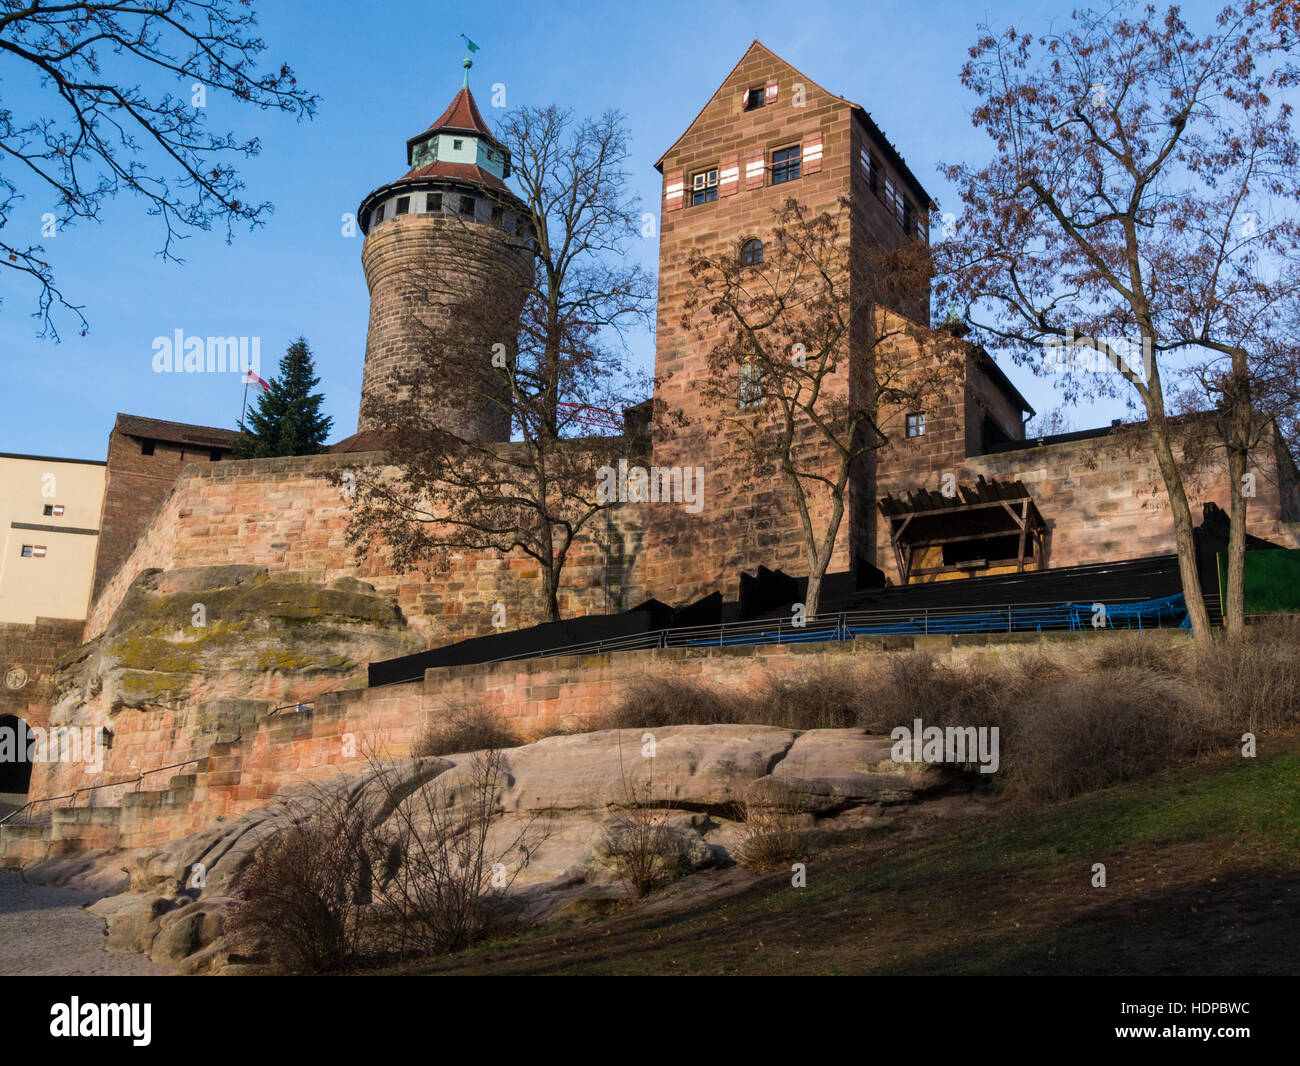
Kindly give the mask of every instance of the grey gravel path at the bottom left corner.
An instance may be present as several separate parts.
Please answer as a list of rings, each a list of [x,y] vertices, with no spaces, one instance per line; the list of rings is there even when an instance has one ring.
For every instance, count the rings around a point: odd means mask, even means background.
[[[82,910],[94,892],[27,884],[0,870],[0,974],[136,976],[172,972],[144,956],[105,952],[104,923]]]

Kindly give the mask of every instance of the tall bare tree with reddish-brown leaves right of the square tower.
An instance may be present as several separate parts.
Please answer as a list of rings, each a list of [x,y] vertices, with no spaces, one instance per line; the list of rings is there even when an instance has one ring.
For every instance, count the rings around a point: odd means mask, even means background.
[[[1019,361],[1063,372],[1071,399],[1126,394],[1144,410],[1204,637],[1171,400],[1197,360],[1223,363],[1206,381],[1230,411],[1231,607],[1252,438],[1243,420],[1274,312],[1294,291],[1300,150],[1290,108],[1270,95],[1283,48],[1270,12],[1225,8],[1199,35],[1178,8],[1131,9],[1076,12],[1041,36],[983,27],[962,82],[994,153],[979,169],[945,168],[965,207],[939,251],[970,321]],[[1062,363],[1062,342],[1100,354],[1110,373]]]

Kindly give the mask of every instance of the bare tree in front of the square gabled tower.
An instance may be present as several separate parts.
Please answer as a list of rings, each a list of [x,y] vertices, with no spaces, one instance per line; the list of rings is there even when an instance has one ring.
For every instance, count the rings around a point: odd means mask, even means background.
[[[849,203],[774,211],[762,261],[694,251],[682,324],[707,346],[698,387],[723,420],[727,452],[779,473],[803,530],[805,610],[815,615],[850,476],[907,411],[954,381],[956,342],[894,311],[930,285],[924,242],[872,247],[850,263]],[[738,386],[737,386],[738,384]]]

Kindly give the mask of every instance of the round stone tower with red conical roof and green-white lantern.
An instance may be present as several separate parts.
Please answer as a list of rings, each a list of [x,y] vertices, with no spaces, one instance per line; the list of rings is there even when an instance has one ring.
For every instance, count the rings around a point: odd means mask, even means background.
[[[464,326],[452,326],[451,304],[482,299],[491,321],[517,329],[533,269],[532,216],[506,186],[510,152],[478,113],[468,75],[442,116],[407,142],[407,165],[403,177],[367,196],[356,216],[370,290],[358,432],[384,429],[370,400],[400,400],[407,390],[398,376],[465,335]],[[504,377],[493,372],[491,346],[482,347],[480,380],[467,380],[464,359],[448,368],[434,421],[464,439],[508,441],[508,412],[491,399],[503,396]]]

